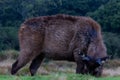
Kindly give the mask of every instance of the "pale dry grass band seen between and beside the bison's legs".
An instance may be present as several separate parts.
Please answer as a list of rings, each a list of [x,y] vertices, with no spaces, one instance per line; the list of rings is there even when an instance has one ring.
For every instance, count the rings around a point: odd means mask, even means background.
[[[0,74],[2,75],[10,75],[11,66],[14,60],[5,60],[0,62]],[[18,74],[21,73],[29,74],[29,64],[20,70]],[[39,74],[50,74],[50,73],[75,73],[76,64],[73,62],[67,61],[49,61],[46,63],[42,63],[41,67],[37,71],[37,75]],[[24,75],[24,74],[23,74]],[[120,67],[112,68],[104,68],[103,76],[120,76]]]

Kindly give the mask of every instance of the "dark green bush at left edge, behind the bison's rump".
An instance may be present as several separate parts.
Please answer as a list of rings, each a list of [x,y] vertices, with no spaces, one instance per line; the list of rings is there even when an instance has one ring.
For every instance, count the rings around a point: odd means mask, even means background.
[[[18,28],[0,28],[0,51],[7,49],[18,50]]]

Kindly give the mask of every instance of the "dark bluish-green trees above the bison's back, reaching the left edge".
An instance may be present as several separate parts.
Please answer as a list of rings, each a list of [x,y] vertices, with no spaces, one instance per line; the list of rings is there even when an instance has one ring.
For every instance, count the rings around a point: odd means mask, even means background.
[[[0,0],[0,26],[19,27],[27,18],[70,14],[85,16],[109,0]]]

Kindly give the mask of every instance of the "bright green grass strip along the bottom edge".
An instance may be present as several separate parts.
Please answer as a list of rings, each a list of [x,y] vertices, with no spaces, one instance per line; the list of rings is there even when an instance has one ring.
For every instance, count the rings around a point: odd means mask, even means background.
[[[50,75],[37,75],[34,77],[0,75],[0,80],[120,80],[120,76],[95,78],[88,75],[57,73]]]

